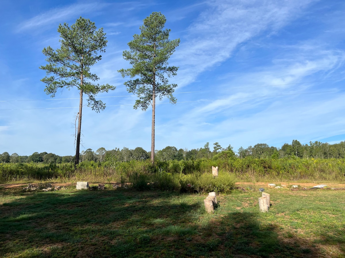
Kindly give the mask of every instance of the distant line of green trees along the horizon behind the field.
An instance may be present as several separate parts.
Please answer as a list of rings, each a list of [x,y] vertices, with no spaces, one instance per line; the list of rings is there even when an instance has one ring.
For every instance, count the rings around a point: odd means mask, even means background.
[[[131,160],[146,160],[150,159],[151,152],[146,151],[141,147],[129,149],[127,147],[115,148],[106,150],[101,147],[96,151],[86,149],[81,151],[79,155],[80,162],[82,161],[95,161],[95,162],[127,162]],[[155,159],[159,161],[168,160],[196,160],[196,159],[218,159],[223,158],[240,158],[253,157],[257,159],[279,159],[279,158],[345,158],[345,141],[335,144],[327,142],[309,142],[309,144],[301,144],[297,140],[293,140],[291,144],[284,143],[281,148],[269,146],[266,143],[257,143],[254,146],[249,146],[244,149],[240,147],[236,152],[233,147],[229,145],[227,148],[222,148],[218,142],[213,144],[211,150],[209,142],[204,147],[197,149],[177,149],[174,146],[167,146],[162,150],[155,151]],[[20,156],[17,153],[3,152],[0,154],[1,163],[69,163],[74,162],[75,156],[59,156],[54,153],[47,152],[34,152],[30,156]]]

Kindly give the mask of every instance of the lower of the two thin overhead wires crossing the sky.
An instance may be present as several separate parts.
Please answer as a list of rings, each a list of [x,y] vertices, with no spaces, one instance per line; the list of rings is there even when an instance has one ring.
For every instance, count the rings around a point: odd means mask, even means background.
[[[267,98],[267,97],[280,97],[280,96],[292,96],[292,95],[303,95],[303,94],[315,94],[315,93],[327,93],[327,92],[344,92],[345,90],[329,90],[326,92],[306,92],[306,93],[293,93],[293,94],[281,94],[281,95],[267,95],[267,96],[256,96],[256,97],[243,97],[243,98],[225,98],[225,99],[200,99],[191,101],[178,101],[176,103],[190,103],[200,101],[220,101],[220,100],[233,100],[233,99],[246,99],[246,98]],[[170,102],[158,102],[156,104],[170,104]],[[121,104],[121,105],[107,105],[107,107],[119,107],[119,106],[133,106],[133,104]],[[83,106],[87,107],[87,106]],[[33,109],[61,109],[61,108],[79,108],[79,107],[52,107],[52,108],[20,108],[20,109],[0,109],[5,110],[33,110]]]

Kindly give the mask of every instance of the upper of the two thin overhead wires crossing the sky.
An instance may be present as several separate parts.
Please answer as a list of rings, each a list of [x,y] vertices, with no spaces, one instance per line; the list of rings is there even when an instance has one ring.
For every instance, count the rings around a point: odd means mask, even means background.
[[[184,93],[197,93],[197,92],[215,92],[219,90],[230,90],[230,89],[251,89],[251,88],[262,88],[262,87],[273,87],[273,86],[285,86],[285,85],[295,85],[295,84],[305,84],[305,83],[321,83],[321,82],[332,82],[335,80],[345,80],[344,79],[334,79],[334,80],[317,80],[314,82],[303,82],[303,83],[286,83],[286,84],[275,84],[275,85],[264,85],[264,86],[251,86],[251,87],[239,87],[239,88],[228,88],[228,89],[206,89],[206,90],[196,90],[192,92],[174,92],[172,94],[184,94]],[[140,96],[149,96],[152,94],[141,94]],[[120,97],[136,97],[136,95],[123,95],[123,96],[104,96],[95,98],[120,98]],[[48,99],[19,99],[19,100],[0,100],[0,102],[14,102],[14,101],[41,101],[41,100],[66,100],[66,99],[79,99],[78,98],[48,98]],[[87,97],[83,98],[87,99]]]

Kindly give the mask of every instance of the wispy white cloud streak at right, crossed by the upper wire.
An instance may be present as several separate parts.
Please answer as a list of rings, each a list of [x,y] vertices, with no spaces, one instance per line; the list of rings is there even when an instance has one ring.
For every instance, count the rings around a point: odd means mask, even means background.
[[[238,74],[236,79],[228,81],[226,84],[220,85],[218,89],[219,92],[212,94],[215,99],[229,99],[229,100],[215,100],[211,103],[205,103],[201,107],[193,109],[193,111],[188,112],[188,117],[195,117],[196,119],[204,119],[208,114],[214,114],[222,112],[223,109],[228,110],[233,106],[238,106],[244,102],[253,103],[252,97],[259,96],[269,96],[269,95],[284,95],[284,94],[295,94],[304,93],[305,90],[309,89],[313,84],[300,84],[297,86],[292,85],[281,85],[298,83],[301,79],[318,73],[320,71],[327,72],[332,71],[332,69],[338,66],[339,63],[344,63],[345,53],[340,53],[336,55],[332,52],[325,51],[324,56],[320,57],[318,60],[305,60],[298,62],[285,62],[283,60],[276,60],[275,66],[265,67],[260,72],[246,73],[245,75]],[[241,85],[243,90],[221,90],[222,88],[231,88],[231,85]],[[267,86],[267,85],[278,85],[272,87],[258,87],[245,89],[246,87],[253,86]],[[238,93],[234,93],[239,91]],[[314,90],[315,91],[315,90]],[[243,99],[241,99],[243,98]],[[247,99],[246,99],[247,98]],[[265,98],[254,99],[256,105],[259,105],[266,101]]]

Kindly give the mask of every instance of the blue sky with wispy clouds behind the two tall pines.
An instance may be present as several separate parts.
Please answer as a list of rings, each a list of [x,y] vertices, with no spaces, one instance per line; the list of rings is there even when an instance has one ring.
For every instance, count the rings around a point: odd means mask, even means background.
[[[107,104],[83,109],[81,150],[150,150],[151,110],[133,109],[135,96],[117,72],[127,43],[154,11],[166,16],[180,45],[176,105],[156,106],[156,149],[200,148],[219,142],[237,150],[267,143],[336,143],[345,139],[344,1],[8,1],[1,3],[0,153],[74,155],[77,89],[50,98],[40,81],[42,49],[57,49],[60,23],[80,16],[103,27],[108,45],[91,69],[116,90]],[[74,107],[74,108],[73,108]]]

